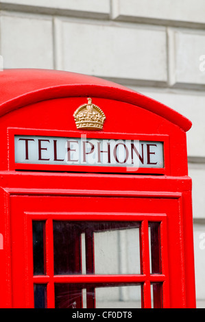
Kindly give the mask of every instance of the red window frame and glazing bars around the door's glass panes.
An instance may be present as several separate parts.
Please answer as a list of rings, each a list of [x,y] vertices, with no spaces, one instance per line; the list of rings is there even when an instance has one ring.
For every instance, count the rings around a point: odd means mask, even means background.
[[[53,271],[53,220],[60,221],[137,221],[141,222],[141,274],[132,275],[54,275]],[[45,264],[47,275],[33,275],[33,253],[32,247],[32,221],[45,221]],[[150,273],[149,259],[149,222],[160,223],[160,251],[161,251],[161,273]],[[47,284],[47,308],[55,308],[54,284],[92,284],[97,287],[103,284],[120,286],[122,284],[141,284],[142,308],[152,308],[151,284],[162,285],[162,297],[154,297],[154,308],[169,307],[169,273],[167,264],[167,215],[166,214],[119,214],[119,213],[84,213],[84,212],[25,212],[25,223],[27,227],[27,262],[28,267],[28,290],[29,307],[34,307],[34,284]],[[157,284],[156,284],[157,285]],[[158,288],[154,287],[154,293]],[[159,294],[159,293],[158,293]],[[88,300],[88,306],[93,308],[93,301]]]

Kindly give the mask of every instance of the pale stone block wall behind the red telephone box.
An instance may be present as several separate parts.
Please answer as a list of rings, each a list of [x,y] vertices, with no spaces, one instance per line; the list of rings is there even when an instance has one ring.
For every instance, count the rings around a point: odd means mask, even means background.
[[[205,307],[205,1],[0,1],[4,69],[60,69],[103,77],[152,97],[193,122],[197,307]]]

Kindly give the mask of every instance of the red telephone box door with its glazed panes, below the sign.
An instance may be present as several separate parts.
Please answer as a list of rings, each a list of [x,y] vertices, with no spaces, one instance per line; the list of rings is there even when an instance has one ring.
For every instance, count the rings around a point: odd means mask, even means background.
[[[186,305],[180,195],[13,193],[10,216],[13,308]]]

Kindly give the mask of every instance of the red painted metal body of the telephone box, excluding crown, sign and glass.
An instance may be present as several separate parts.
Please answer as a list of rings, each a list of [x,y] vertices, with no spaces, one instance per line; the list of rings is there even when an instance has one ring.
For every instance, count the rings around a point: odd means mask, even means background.
[[[34,284],[46,284],[48,308],[55,307],[56,284],[69,284],[76,293],[87,287],[87,307],[95,306],[96,286],[140,284],[143,308],[152,306],[151,285],[155,308],[195,308],[191,178],[186,155],[186,131],[191,122],[128,88],[85,75],[12,70],[1,73],[0,84],[0,306],[33,308]],[[106,114],[101,131],[76,129],[73,112],[87,97]],[[16,164],[14,135],[18,134],[160,141],[165,166],[131,171]],[[42,220],[46,274],[34,275],[32,221]],[[136,221],[140,225],[141,273],[93,274],[91,234],[86,238],[87,249],[91,249],[86,254],[87,272],[55,275],[56,220]],[[74,245],[73,265],[80,270],[79,236]],[[82,306],[81,295],[76,303]]]

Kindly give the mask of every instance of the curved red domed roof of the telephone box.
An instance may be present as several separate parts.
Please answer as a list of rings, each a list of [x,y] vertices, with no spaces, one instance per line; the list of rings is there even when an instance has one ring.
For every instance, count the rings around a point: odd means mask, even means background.
[[[185,132],[191,121],[175,110],[130,88],[98,77],[45,69],[0,72],[0,116],[31,103],[64,97],[101,97],[131,103],[162,116]]]

